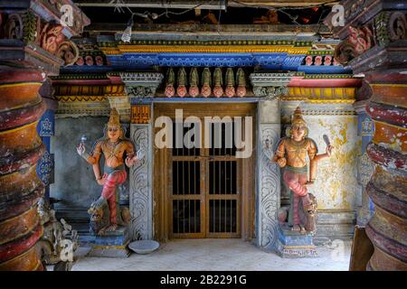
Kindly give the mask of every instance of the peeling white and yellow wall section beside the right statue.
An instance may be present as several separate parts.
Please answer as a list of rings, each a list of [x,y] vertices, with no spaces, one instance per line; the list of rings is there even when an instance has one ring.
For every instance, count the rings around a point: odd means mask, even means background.
[[[355,210],[357,205],[357,156],[361,141],[357,136],[356,116],[305,116],[309,137],[317,142],[318,154],[325,154],[327,135],[334,146],[329,159],[318,163],[317,180],[311,191],[318,210]]]

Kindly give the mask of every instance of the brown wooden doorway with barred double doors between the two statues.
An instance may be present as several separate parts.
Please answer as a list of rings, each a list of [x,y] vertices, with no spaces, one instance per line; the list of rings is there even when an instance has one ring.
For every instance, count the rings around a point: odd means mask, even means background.
[[[155,238],[252,237],[254,154],[241,152],[255,147],[254,107],[155,106],[156,124],[159,117],[171,119],[167,132],[172,138],[171,147],[160,148],[164,126],[155,128]],[[251,144],[243,147],[239,137]]]

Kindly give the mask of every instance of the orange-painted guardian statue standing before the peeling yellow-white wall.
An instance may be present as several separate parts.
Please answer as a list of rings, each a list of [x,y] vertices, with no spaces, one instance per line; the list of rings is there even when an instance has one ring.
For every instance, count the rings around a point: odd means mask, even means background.
[[[312,185],[316,179],[317,162],[330,156],[333,146],[324,136],[327,142],[327,152],[317,154],[317,144],[308,137],[308,127],[299,107],[294,112],[286,135],[279,140],[272,161],[278,163],[281,168],[285,167],[283,179],[291,191],[289,227],[301,234],[305,234],[307,231],[313,233],[317,223],[317,200],[313,194],[308,193],[308,186]],[[307,154],[310,166],[309,180]],[[286,218],[287,214],[282,218],[279,216],[279,221],[284,222]]]

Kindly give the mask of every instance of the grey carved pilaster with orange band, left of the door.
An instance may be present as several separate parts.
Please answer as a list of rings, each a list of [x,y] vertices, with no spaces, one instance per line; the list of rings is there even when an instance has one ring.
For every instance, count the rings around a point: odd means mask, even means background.
[[[154,72],[122,72],[131,103],[130,138],[144,158],[130,168],[130,234],[132,239],[153,238],[153,131],[152,100],[164,78]]]

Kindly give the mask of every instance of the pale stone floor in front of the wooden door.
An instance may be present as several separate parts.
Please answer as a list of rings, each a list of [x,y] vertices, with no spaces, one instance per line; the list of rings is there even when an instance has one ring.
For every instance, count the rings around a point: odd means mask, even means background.
[[[82,256],[72,270],[346,271],[349,266],[350,247],[350,242],[339,241],[318,247],[318,257],[287,259],[262,251],[241,239],[180,239],[161,244],[158,250],[148,255],[133,253],[128,258]],[[80,249],[82,253],[86,253],[85,247]]]

